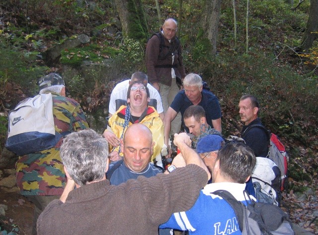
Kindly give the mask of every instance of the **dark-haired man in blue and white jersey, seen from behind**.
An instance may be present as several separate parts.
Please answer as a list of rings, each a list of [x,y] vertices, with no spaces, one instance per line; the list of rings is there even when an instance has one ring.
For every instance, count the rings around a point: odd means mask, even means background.
[[[212,193],[217,190],[227,190],[246,205],[243,191],[255,162],[253,150],[246,144],[240,142],[225,144],[219,150],[212,170],[213,183],[201,190],[198,200],[190,210],[172,214],[159,228],[188,230],[190,235],[241,234],[232,207]]]

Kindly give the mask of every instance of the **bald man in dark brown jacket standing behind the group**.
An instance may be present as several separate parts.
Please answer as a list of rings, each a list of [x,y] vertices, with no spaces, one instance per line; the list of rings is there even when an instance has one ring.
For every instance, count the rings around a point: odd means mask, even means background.
[[[182,62],[181,45],[175,36],[177,22],[168,18],[164,21],[160,32],[151,37],[146,48],[146,67],[149,82],[159,91],[164,113],[179,92],[185,77]],[[178,133],[181,116],[172,123],[172,133]]]

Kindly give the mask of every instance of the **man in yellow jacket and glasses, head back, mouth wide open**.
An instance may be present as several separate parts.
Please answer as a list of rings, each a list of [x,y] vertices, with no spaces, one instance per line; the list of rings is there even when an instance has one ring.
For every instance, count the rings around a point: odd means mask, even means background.
[[[154,151],[151,161],[162,166],[161,149],[163,148],[163,122],[158,112],[152,106],[148,106],[149,90],[141,82],[133,82],[127,92],[127,106],[121,106],[118,111],[109,118],[107,129],[103,137],[113,146],[109,153],[111,161],[122,159],[123,153],[120,144],[126,128],[133,123],[146,125],[153,134]]]

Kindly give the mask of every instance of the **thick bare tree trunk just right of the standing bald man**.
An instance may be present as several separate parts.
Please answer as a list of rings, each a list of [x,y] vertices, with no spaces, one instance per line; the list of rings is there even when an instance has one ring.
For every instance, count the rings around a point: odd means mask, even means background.
[[[211,53],[216,54],[221,11],[221,0],[206,0],[202,17],[203,37],[211,42]]]

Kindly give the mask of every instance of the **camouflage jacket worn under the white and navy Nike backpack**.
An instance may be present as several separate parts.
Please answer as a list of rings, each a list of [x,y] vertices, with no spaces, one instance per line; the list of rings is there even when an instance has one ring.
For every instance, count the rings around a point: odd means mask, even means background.
[[[86,117],[75,100],[52,93],[55,130],[63,136],[88,128]],[[20,156],[15,164],[16,184],[20,193],[29,195],[61,195],[66,176],[60,157],[62,140],[55,147]]]

